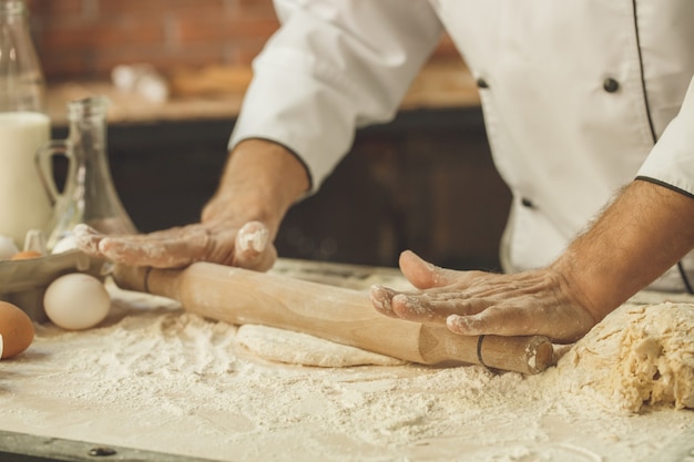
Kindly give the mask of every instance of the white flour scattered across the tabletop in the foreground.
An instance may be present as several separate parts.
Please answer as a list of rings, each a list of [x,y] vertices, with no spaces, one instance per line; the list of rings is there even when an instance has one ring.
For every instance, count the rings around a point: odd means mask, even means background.
[[[0,362],[0,429],[218,461],[609,462],[659,460],[694,427],[694,412],[675,410],[667,393],[637,413],[623,412],[631,398],[611,407],[614,388],[600,383],[615,372],[591,369],[588,338],[583,352],[528,377],[478,366],[302,367],[253,355],[235,326],[110,290],[100,327],[39,326],[23,355]]]

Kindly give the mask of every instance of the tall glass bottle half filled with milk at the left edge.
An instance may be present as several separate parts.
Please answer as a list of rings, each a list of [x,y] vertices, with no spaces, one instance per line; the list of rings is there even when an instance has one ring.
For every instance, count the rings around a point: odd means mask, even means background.
[[[45,226],[51,202],[34,156],[50,140],[45,81],[23,1],[0,0],[0,235],[21,248]]]

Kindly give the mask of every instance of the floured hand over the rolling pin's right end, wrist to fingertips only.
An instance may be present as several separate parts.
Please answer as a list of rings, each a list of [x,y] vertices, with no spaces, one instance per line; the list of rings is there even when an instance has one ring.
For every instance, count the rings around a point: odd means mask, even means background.
[[[552,269],[517,275],[457,271],[411,251],[400,256],[400,268],[421,291],[374,286],[374,306],[387,316],[445,325],[463,336],[544,335],[557,342],[575,341],[596,322]]]

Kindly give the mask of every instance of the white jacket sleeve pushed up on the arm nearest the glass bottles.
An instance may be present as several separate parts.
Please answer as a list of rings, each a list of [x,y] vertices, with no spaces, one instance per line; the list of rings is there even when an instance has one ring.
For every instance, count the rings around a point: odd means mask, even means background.
[[[229,148],[283,144],[313,191],[357,127],[391,120],[442,27],[427,0],[275,0],[282,27],[254,60]]]

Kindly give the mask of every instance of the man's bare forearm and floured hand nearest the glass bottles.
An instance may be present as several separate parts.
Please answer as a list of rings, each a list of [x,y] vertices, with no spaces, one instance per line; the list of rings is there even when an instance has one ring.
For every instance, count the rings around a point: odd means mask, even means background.
[[[246,140],[232,152],[201,223],[125,236],[82,225],[75,239],[90,255],[131,266],[177,268],[211,261],[267,270],[277,258],[273,242],[280,222],[308,188],[306,168],[294,154],[276,143]]]

